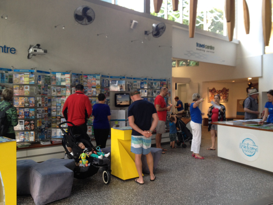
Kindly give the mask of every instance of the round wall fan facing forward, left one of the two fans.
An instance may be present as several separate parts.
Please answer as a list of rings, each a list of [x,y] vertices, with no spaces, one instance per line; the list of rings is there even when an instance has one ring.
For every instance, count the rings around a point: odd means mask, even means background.
[[[79,6],[74,12],[75,20],[82,25],[91,24],[95,19],[95,12],[89,6]]]

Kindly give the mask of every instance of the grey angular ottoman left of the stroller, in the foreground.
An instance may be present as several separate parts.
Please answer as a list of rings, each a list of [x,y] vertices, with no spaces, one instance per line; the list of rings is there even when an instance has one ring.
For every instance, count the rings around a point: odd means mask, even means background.
[[[36,205],[68,197],[74,178],[75,160],[49,159],[41,163],[17,160],[17,195],[31,194]]]

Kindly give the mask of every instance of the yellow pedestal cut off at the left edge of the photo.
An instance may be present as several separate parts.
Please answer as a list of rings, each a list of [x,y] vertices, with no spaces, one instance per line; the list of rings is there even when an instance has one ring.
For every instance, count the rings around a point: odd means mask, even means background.
[[[0,137],[0,158],[0,171],[4,184],[2,190],[4,192],[4,204],[16,204],[17,181],[15,140]]]

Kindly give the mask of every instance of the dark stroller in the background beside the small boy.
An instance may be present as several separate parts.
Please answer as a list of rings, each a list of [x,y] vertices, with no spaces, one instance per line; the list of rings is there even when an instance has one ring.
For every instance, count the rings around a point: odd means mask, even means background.
[[[189,142],[189,144],[192,144],[192,133],[186,127],[186,124],[179,118],[177,118],[175,125],[177,128],[179,128],[179,131],[177,131],[176,133],[178,137],[176,144],[180,146],[180,144],[182,143],[182,147],[186,148],[187,144],[185,144],[185,142]]]

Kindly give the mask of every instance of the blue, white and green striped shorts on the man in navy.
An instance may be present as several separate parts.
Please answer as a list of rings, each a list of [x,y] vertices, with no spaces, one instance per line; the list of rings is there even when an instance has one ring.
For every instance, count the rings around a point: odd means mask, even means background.
[[[152,136],[151,137],[144,137],[132,135],[131,136],[131,152],[135,154],[149,154],[151,151],[151,143],[152,143]]]

